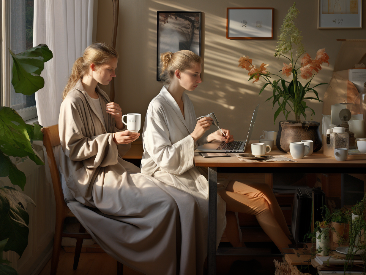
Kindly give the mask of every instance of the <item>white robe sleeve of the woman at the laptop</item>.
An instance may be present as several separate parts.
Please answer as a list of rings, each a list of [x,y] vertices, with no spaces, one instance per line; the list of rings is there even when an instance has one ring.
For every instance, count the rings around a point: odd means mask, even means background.
[[[175,175],[181,175],[194,167],[194,141],[191,135],[172,144],[164,115],[155,112],[146,115],[144,130],[145,150],[160,169]]]

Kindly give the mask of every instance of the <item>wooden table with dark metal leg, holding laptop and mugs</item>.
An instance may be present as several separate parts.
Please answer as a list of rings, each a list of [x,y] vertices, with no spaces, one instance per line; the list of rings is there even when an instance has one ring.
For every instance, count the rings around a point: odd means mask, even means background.
[[[251,152],[250,141],[246,153]],[[241,172],[241,173],[363,173],[366,168],[366,160],[348,159],[337,161],[334,157],[325,156],[322,149],[306,156],[301,160],[248,163],[240,161],[234,153],[231,157],[204,158],[198,153],[194,155],[196,167],[208,167],[209,182],[209,208],[208,208],[208,275],[216,274],[216,255],[225,255],[220,249],[216,252],[216,199],[217,199],[217,172]],[[280,150],[269,153],[272,156],[284,155]],[[291,154],[285,154],[292,158]],[[239,249],[237,253],[240,253]],[[230,252],[232,253],[232,252]],[[247,253],[244,253],[247,254]]]

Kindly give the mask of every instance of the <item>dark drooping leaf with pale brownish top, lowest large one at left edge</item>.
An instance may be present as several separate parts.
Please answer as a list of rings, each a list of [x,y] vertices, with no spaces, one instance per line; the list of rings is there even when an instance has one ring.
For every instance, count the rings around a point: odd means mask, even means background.
[[[29,196],[15,188],[0,187],[0,240],[8,238],[4,251],[15,251],[20,257],[28,245],[28,203],[34,205]]]

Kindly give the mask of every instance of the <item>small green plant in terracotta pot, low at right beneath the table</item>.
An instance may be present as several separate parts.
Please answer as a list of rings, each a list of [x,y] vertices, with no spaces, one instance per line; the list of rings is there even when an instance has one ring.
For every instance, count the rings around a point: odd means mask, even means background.
[[[344,235],[348,230],[347,209],[336,209],[330,218],[330,227],[333,229],[332,240],[339,246],[346,243]]]

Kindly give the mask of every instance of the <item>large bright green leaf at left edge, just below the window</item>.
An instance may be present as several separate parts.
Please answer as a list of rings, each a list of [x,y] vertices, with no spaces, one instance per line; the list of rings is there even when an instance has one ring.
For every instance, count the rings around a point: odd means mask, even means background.
[[[34,126],[26,124],[12,108],[0,107],[0,150],[4,154],[13,157],[29,156],[37,165],[44,165],[32,148],[32,135],[34,136]]]

